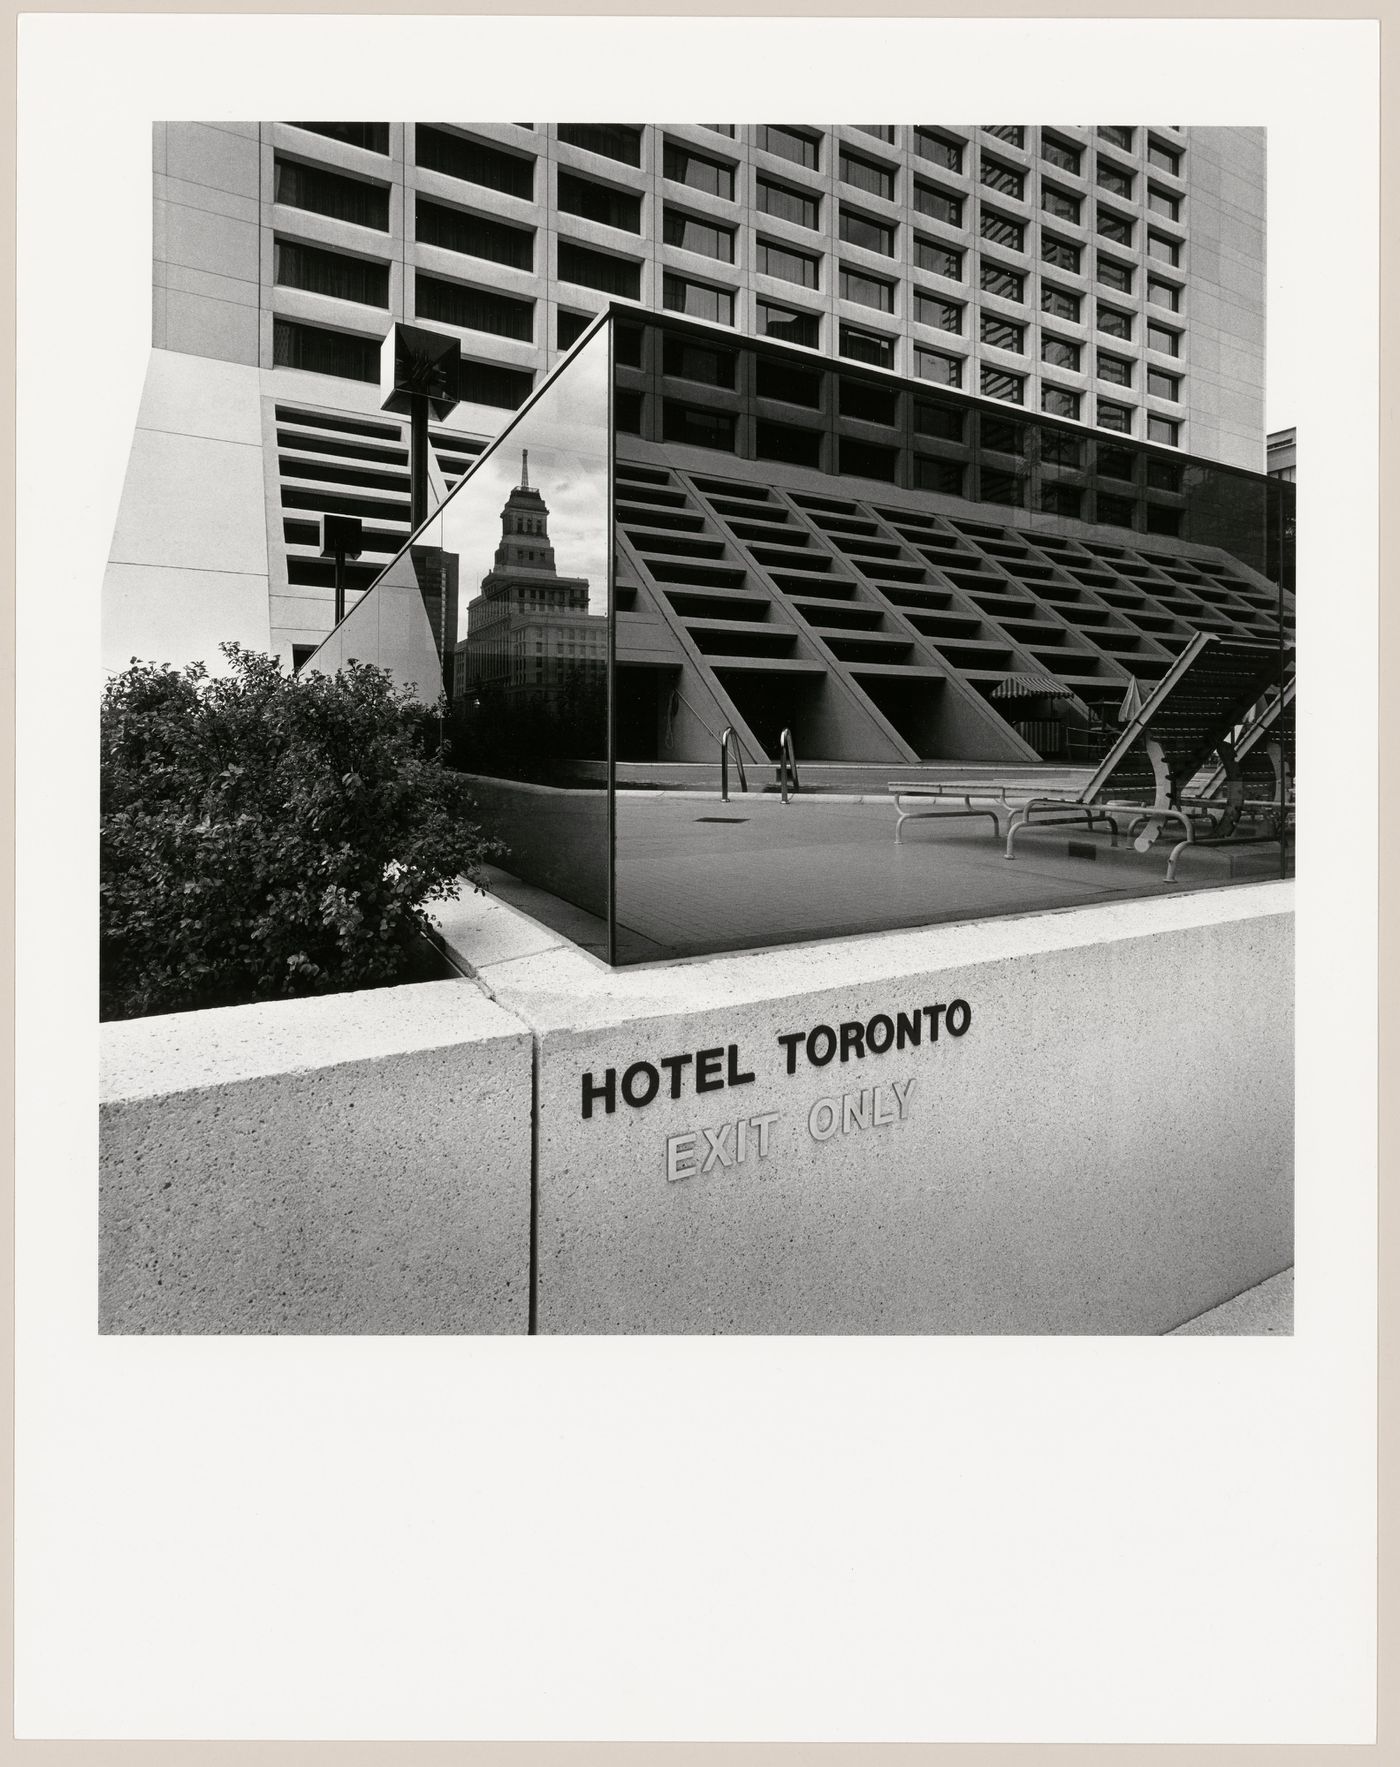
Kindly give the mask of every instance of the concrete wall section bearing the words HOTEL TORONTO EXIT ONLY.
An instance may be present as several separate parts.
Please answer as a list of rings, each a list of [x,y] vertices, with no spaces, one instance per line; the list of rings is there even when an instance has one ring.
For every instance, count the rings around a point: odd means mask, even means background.
[[[544,1332],[1156,1334],[1292,1262],[1290,884],[622,972],[521,919],[449,937],[539,1039]]]

